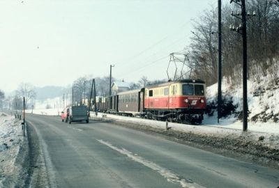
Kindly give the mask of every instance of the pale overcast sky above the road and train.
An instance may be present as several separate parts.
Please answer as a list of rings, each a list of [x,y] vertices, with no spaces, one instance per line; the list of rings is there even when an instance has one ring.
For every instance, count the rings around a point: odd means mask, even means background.
[[[0,1],[0,89],[66,86],[110,74],[166,79],[169,54],[189,45],[192,19],[217,0]]]

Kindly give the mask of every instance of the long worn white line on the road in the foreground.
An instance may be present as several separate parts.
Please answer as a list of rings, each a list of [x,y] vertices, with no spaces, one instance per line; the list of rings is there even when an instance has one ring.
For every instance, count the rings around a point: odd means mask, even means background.
[[[179,178],[178,175],[176,175],[175,173],[172,173],[172,171],[169,171],[168,169],[165,169],[164,167],[159,166],[158,164],[150,162],[149,160],[144,159],[143,157],[140,157],[137,154],[133,154],[133,152],[130,152],[130,151],[126,150],[125,148],[117,148],[116,146],[112,146],[111,143],[108,143],[103,140],[97,140],[97,141],[105,144],[106,146],[109,146],[113,150],[116,150],[116,151],[122,153],[123,155],[128,156],[130,159],[133,159],[135,162],[139,162],[140,164],[143,164],[144,166],[149,167],[153,171],[160,173],[160,175],[162,175],[164,178],[166,178],[168,182],[178,183],[181,185],[181,187],[205,188],[205,187],[202,187],[201,185],[198,185],[197,183],[193,182],[192,180],[181,179],[181,178]]]

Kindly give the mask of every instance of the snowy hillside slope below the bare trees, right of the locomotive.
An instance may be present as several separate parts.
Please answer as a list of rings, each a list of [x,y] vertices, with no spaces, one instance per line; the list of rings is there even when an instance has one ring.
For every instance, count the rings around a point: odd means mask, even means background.
[[[232,97],[236,107],[236,114],[242,111],[242,85],[233,85],[226,79],[222,81],[223,97]],[[208,102],[217,100],[218,84],[206,88]],[[261,81],[248,80],[248,120],[250,122],[279,123],[279,85],[276,85],[269,77],[263,77]],[[235,114],[235,115],[236,115]],[[234,118],[236,121],[237,118]],[[262,124],[264,125],[264,124]]]

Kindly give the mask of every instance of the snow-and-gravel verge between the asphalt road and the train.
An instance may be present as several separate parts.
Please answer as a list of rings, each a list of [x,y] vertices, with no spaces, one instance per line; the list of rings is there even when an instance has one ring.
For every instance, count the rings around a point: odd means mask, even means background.
[[[148,134],[164,136],[188,146],[208,150],[232,157],[245,162],[252,162],[263,166],[279,169],[279,135],[263,132],[242,132],[240,130],[224,129],[220,127],[206,127],[202,125],[175,125],[169,123],[165,129],[165,122],[141,120],[128,117],[108,117],[99,114],[92,117],[123,127],[133,128]],[[138,120],[137,120],[138,119]]]

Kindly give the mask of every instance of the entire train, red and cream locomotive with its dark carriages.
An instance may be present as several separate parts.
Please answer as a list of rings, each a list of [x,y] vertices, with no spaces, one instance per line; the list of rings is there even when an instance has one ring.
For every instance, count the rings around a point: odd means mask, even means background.
[[[122,116],[200,124],[206,109],[205,82],[200,79],[163,84],[97,97],[96,109]]]

